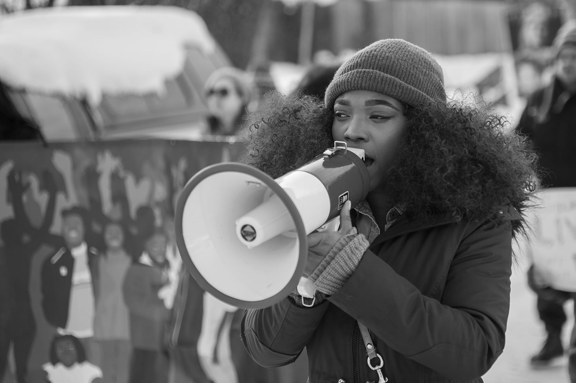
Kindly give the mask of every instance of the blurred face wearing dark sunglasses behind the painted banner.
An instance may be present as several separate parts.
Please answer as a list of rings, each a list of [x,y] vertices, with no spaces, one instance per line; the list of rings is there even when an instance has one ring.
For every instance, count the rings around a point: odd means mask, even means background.
[[[244,103],[232,79],[223,77],[207,90],[206,103],[210,114],[226,126],[236,123]]]

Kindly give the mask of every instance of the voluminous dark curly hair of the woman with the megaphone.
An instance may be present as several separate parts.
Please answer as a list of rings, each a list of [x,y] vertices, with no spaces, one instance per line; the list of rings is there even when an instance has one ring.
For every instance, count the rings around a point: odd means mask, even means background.
[[[406,106],[407,128],[388,170],[386,193],[413,220],[436,214],[455,219],[505,220],[522,216],[513,235],[526,235],[526,209],[537,188],[536,154],[505,117],[476,98],[425,108]],[[242,159],[277,178],[331,147],[332,111],[302,94],[271,95],[252,116]]]

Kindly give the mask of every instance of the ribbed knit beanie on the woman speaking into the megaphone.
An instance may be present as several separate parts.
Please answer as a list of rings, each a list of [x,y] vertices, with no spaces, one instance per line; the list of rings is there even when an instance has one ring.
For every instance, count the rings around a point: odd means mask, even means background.
[[[401,39],[376,41],[344,62],[326,89],[326,108],[348,90],[377,91],[411,106],[446,104],[442,68],[425,49]]]

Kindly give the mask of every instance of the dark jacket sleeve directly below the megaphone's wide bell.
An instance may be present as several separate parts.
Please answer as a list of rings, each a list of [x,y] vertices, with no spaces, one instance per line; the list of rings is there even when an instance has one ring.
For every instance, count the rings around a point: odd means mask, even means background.
[[[309,342],[327,308],[327,301],[308,308],[286,298],[272,307],[248,310],[242,318],[242,343],[252,359],[263,367],[292,363]]]

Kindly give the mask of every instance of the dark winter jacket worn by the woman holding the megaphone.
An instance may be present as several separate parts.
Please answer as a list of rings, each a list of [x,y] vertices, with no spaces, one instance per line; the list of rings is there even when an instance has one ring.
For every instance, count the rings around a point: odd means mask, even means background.
[[[502,214],[520,219],[512,208]],[[509,224],[402,215],[338,292],[312,308],[286,298],[248,311],[242,340],[268,367],[293,362],[306,346],[310,383],[377,382],[358,320],[389,381],[482,382],[504,347],[510,275]]]

